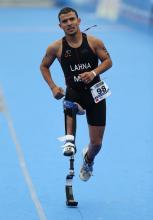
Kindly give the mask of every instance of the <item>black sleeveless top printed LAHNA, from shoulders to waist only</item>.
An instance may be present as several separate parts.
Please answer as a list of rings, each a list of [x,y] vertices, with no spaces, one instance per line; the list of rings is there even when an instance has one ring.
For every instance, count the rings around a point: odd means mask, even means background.
[[[62,39],[61,67],[66,85],[74,89],[89,88],[100,81],[100,77],[96,76],[91,83],[85,84],[79,78],[80,73],[94,70],[98,66],[98,56],[90,48],[87,35],[82,33],[82,37],[82,44],[78,48],[71,47],[66,37]]]

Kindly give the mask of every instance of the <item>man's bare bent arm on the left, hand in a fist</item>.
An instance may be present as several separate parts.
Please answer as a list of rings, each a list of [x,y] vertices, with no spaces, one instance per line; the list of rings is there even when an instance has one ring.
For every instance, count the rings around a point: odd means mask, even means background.
[[[64,96],[64,91],[62,88],[58,87],[52,79],[51,72],[49,70],[50,66],[57,57],[57,50],[59,47],[59,42],[55,42],[47,48],[46,54],[41,62],[40,70],[43,78],[50,87],[53,96],[56,99],[61,99]]]

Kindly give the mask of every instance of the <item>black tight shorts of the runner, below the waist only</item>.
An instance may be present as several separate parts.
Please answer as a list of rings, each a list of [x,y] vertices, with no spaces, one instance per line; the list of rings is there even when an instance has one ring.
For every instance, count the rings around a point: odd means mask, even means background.
[[[105,126],[106,124],[106,101],[95,103],[90,89],[75,90],[66,89],[65,100],[77,102],[86,110],[87,122],[93,126]]]

